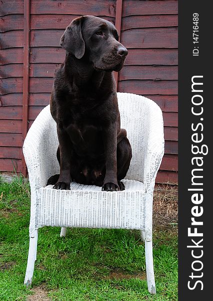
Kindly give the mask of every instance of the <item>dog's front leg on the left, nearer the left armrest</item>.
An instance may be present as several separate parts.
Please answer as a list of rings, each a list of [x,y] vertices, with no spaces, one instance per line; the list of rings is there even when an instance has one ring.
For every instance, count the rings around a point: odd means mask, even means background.
[[[70,189],[70,153],[71,143],[68,134],[61,124],[57,124],[57,137],[60,148],[60,175],[54,189]]]

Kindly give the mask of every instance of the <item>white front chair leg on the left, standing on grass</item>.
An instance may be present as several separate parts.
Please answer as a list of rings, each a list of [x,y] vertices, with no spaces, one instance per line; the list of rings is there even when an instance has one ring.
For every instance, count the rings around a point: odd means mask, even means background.
[[[32,284],[32,275],[34,271],[34,263],[36,260],[36,253],[37,253],[37,235],[38,230],[35,230],[34,234],[29,238],[29,251],[28,251],[28,258],[27,258],[27,266],[26,266],[26,273],[24,278],[24,283],[26,287],[30,287]]]

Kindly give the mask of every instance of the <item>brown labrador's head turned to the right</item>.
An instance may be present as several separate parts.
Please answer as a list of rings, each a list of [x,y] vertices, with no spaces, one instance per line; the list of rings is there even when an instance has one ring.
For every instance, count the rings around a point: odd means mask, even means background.
[[[94,16],[74,19],[60,38],[60,46],[77,59],[88,59],[94,69],[105,71],[119,71],[128,53],[118,42],[114,25]]]

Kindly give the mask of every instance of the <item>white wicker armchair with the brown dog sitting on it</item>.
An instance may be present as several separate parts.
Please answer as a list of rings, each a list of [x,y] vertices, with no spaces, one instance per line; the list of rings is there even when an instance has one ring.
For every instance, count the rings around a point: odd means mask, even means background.
[[[164,153],[163,120],[152,100],[117,93],[121,128],[127,130],[132,159],[121,192],[71,183],[71,190],[55,190],[47,179],[59,173],[56,123],[49,105],[36,117],[23,144],[31,189],[29,252],[24,284],[31,285],[36,260],[38,228],[67,227],[139,229],[145,241],[148,290],[155,293],[152,259],[152,200],[156,173]]]

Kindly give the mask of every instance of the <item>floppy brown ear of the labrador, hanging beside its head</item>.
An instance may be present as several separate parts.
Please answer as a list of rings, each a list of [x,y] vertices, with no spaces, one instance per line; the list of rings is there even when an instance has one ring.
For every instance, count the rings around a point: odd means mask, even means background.
[[[85,43],[81,33],[82,21],[83,17],[72,20],[60,38],[60,46],[77,59],[81,59],[85,52]]]

